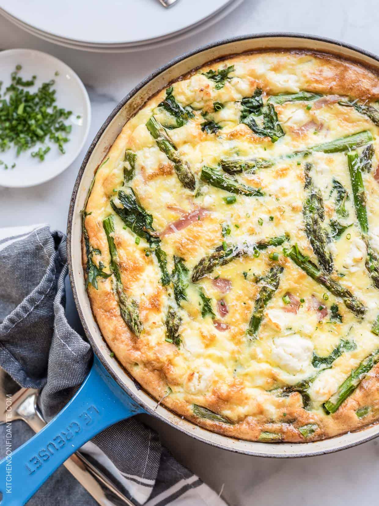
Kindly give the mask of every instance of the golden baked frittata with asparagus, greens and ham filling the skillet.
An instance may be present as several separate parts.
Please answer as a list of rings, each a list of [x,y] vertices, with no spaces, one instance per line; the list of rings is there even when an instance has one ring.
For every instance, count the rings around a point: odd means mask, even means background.
[[[83,209],[115,357],[202,427],[304,442],[379,417],[379,80],[327,54],[213,62],[122,129]]]

